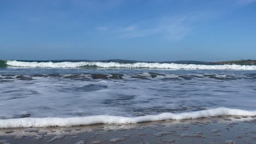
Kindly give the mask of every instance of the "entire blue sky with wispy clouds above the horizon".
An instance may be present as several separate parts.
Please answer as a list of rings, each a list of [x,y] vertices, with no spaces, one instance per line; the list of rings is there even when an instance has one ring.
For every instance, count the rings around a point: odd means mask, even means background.
[[[0,59],[256,59],[256,0],[1,0]]]

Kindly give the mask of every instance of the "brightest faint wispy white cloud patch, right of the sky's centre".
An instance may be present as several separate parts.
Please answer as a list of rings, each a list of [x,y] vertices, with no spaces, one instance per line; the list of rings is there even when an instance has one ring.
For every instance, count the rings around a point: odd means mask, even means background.
[[[151,24],[149,24],[151,23]],[[139,22],[137,26],[126,26],[120,31],[122,38],[163,35],[166,39],[181,40],[191,31],[187,17],[165,17],[151,21]],[[151,25],[151,26],[150,26]]]

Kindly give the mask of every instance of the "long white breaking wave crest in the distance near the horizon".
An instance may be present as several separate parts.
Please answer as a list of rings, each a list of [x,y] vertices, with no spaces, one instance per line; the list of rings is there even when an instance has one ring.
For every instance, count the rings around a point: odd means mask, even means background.
[[[159,69],[211,69],[211,70],[256,70],[256,65],[203,65],[203,64],[175,64],[175,63],[104,63],[104,62],[20,62],[7,61],[15,67],[34,68],[77,68],[82,66],[97,66],[102,68],[159,68]]]

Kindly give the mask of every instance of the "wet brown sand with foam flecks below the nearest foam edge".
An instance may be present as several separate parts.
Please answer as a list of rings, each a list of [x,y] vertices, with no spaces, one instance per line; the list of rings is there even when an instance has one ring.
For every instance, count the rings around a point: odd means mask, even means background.
[[[0,129],[0,143],[256,143],[256,117]]]

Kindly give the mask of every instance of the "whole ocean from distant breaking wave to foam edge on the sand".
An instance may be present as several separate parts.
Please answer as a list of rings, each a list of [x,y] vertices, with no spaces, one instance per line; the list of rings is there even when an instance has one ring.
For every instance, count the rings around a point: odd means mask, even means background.
[[[256,115],[256,65],[0,61],[0,128]]]

